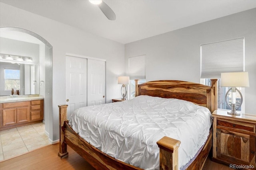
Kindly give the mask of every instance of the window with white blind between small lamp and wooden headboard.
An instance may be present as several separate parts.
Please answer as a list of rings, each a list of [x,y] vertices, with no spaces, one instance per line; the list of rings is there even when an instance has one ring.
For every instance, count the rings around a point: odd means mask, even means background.
[[[135,81],[139,80],[138,84],[146,82],[145,76],[145,55],[140,55],[136,57],[129,57],[129,76],[130,76],[130,86],[129,86],[129,98],[135,97]]]

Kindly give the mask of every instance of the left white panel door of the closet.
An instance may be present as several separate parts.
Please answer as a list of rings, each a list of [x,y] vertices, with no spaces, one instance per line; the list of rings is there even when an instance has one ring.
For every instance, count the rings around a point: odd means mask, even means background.
[[[79,107],[87,105],[87,59],[66,56],[67,118]]]

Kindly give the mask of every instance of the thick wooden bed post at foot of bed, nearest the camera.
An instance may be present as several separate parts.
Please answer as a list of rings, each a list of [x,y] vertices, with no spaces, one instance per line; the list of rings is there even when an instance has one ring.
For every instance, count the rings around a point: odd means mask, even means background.
[[[160,150],[160,170],[178,170],[180,141],[165,136],[156,143]]]

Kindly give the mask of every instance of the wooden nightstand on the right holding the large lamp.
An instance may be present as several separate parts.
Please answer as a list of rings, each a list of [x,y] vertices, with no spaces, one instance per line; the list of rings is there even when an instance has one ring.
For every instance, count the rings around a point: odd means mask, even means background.
[[[212,160],[229,164],[230,168],[255,170],[256,115],[235,116],[228,115],[227,111],[215,110],[212,116]]]

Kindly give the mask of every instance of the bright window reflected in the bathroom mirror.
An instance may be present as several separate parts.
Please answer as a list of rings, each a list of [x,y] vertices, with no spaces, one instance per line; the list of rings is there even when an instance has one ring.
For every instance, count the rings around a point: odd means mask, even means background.
[[[4,69],[4,90],[20,89],[20,70]]]

